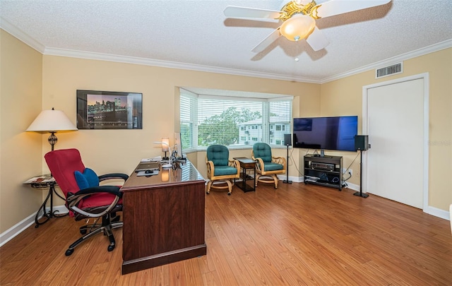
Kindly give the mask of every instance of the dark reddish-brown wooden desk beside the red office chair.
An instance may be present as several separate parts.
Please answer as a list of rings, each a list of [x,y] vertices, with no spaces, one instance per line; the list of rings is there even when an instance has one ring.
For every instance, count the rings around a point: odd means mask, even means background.
[[[205,180],[191,162],[151,177],[133,172],[121,191],[122,274],[206,255]]]

